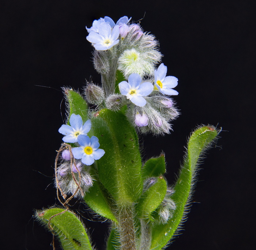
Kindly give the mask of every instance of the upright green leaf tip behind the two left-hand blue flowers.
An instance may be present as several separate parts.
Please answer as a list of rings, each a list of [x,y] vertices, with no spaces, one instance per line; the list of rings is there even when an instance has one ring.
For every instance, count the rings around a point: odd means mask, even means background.
[[[64,88],[65,97],[68,101],[69,117],[71,114],[79,114],[82,117],[83,122],[88,120],[89,107],[84,101],[83,97],[74,90]],[[69,119],[68,119],[69,124]]]

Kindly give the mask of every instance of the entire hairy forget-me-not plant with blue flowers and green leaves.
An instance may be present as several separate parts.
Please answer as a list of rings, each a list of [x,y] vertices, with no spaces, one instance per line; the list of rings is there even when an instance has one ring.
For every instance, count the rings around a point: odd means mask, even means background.
[[[171,184],[158,146],[159,156],[142,157],[143,134],[173,131],[179,112],[170,95],[178,94],[178,79],[166,76],[155,36],[130,21],[105,16],[86,27],[101,83],[86,81],[82,95],[63,87],[67,119],[59,129],[64,137],[54,178],[63,207],[36,212],[53,234],[53,249],[55,237],[63,249],[95,249],[89,230],[71,211],[72,198],[85,202],[95,219],[108,221],[107,250],[164,249],[186,219],[200,157],[217,138],[214,126],[197,128]]]

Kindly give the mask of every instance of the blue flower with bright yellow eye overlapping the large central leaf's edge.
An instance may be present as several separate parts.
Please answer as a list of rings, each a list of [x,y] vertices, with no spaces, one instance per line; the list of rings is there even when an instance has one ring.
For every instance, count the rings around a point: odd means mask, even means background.
[[[94,160],[99,160],[104,154],[103,149],[99,149],[99,139],[96,136],[89,136],[83,134],[78,136],[78,143],[81,147],[72,148],[72,153],[75,159],[82,159],[85,165],[91,165]]]

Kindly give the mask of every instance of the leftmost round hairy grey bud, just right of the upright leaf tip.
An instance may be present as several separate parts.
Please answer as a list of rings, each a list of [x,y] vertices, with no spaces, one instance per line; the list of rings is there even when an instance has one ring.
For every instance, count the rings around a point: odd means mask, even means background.
[[[94,83],[89,83],[84,88],[84,95],[86,100],[93,105],[99,105],[104,100],[104,91],[100,86],[97,86]]]

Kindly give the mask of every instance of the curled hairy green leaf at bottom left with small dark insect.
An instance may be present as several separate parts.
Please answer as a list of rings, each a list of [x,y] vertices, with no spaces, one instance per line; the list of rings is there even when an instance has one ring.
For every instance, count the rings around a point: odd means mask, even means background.
[[[53,228],[54,234],[59,237],[64,250],[92,250],[83,224],[70,211],[59,214],[63,211],[65,210],[61,208],[50,208],[44,211],[37,211],[36,216],[46,227],[48,227],[48,222],[51,218],[50,226]],[[53,215],[56,216],[52,217]]]

